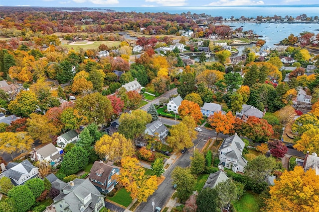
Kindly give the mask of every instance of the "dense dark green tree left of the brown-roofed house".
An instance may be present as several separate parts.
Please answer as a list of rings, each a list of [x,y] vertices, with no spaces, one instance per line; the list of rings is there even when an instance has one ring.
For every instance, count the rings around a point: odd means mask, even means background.
[[[65,175],[77,173],[89,163],[87,150],[80,146],[74,146],[65,153],[61,163],[61,170]]]

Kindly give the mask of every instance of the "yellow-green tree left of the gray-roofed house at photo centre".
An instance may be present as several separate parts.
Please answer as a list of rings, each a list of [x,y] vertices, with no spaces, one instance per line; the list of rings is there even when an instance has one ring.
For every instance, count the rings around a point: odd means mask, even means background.
[[[120,117],[119,133],[127,139],[134,139],[146,130],[146,124],[151,123],[152,116],[143,110],[124,113]]]

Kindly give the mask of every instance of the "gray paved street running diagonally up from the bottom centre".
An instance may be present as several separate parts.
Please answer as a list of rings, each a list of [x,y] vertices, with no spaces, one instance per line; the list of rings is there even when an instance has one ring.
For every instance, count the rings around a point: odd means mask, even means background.
[[[213,132],[203,129],[198,133],[197,139],[194,142],[194,146],[198,149],[202,149],[209,137],[212,137]],[[155,207],[159,206],[164,208],[172,194],[174,189],[172,188],[171,172],[176,166],[187,167],[190,165],[190,156],[192,156],[193,148],[188,149],[184,154],[181,154],[176,161],[171,164],[165,173],[163,174],[165,180],[160,184],[159,188],[154,194],[148,198],[147,202],[142,202],[135,212],[153,212],[152,200],[154,199]]]

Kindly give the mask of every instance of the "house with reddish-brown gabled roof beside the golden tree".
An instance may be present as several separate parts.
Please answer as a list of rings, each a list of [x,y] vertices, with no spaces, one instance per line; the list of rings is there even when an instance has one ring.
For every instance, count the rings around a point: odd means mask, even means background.
[[[112,179],[112,176],[119,174],[119,172],[120,167],[113,165],[112,162],[95,161],[90,171],[89,180],[101,193],[107,194],[118,183]]]

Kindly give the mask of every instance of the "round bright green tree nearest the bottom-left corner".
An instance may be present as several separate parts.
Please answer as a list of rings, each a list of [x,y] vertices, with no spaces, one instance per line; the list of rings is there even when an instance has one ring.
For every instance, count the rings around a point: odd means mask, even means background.
[[[8,197],[13,200],[16,212],[26,212],[35,203],[34,195],[26,185],[13,187]]]

